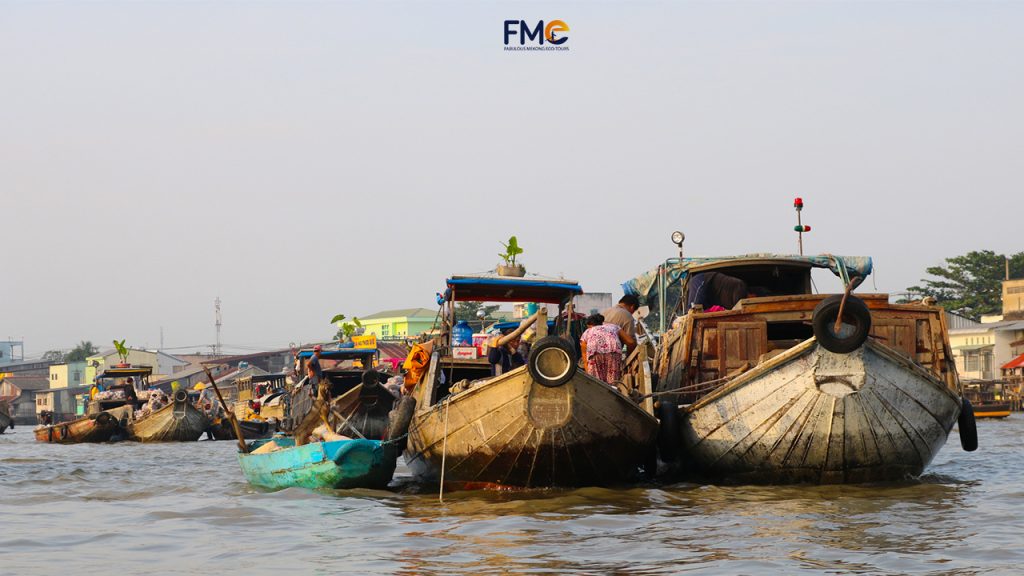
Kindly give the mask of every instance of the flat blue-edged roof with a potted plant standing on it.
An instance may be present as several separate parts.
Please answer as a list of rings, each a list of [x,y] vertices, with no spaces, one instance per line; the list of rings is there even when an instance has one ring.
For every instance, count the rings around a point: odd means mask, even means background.
[[[445,296],[454,301],[538,302],[558,304],[583,288],[574,280],[529,275],[523,278],[495,273],[452,276]]]

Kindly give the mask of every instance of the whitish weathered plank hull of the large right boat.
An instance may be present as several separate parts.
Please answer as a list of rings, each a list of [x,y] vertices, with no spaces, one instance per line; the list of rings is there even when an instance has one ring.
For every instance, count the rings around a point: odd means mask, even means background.
[[[891,481],[925,469],[961,406],[883,344],[842,355],[811,338],[688,406],[682,431],[689,461],[730,481]]]

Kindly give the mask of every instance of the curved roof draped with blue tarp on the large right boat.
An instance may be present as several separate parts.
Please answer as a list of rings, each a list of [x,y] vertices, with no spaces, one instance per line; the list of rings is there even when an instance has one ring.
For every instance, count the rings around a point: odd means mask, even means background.
[[[669,258],[663,265],[649,270],[636,278],[623,283],[623,291],[640,297],[648,297],[657,289],[658,272],[664,268],[668,284],[679,282],[686,276],[738,266],[782,265],[793,268],[828,269],[843,280],[856,288],[871,274],[871,258],[869,256],[836,256],[821,254],[805,256],[799,254],[742,254],[739,256],[709,256],[691,258]]]

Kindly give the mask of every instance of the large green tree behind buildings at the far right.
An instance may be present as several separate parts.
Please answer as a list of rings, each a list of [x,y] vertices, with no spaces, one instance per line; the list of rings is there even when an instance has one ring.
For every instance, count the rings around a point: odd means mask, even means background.
[[[939,305],[968,318],[1002,312],[1002,280],[1007,256],[992,250],[968,252],[946,258],[944,266],[929,266],[925,272],[938,277],[922,279],[924,286],[908,291],[934,296]],[[1024,252],[1009,257],[1010,278],[1024,277]]]

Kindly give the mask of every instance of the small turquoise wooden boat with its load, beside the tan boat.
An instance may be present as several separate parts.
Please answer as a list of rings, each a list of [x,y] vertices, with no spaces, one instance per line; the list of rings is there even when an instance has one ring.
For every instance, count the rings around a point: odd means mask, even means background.
[[[361,388],[362,384],[356,384],[349,393],[335,401],[332,413],[336,413],[338,419],[344,420],[335,421],[335,427],[344,427],[348,434],[365,438],[314,442],[299,446],[296,446],[294,438],[253,442],[249,444],[249,453],[239,454],[239,465],[246,480],[255,486],[272,489],[386,488],[394,476],[398,456],[404,446],[404,437],[416,401],[412,397],[404,397],[388,416],[387,425],[380,429],[379,436],[376,436],[373,434],[373,430],[378,429],[375,424],[366,428],[364,433],[352,424],[351,419],[344,419],[339,412],[347,410],[357,414],[365,411],[365,401],[372,393],[362,392]],[[360,410],[360,406],[364,410]],[[375,403],[374,408],[377,406],[379,404]],[[319,419],[315,413],[310,413],[309,416],[308,420]],[[338,426],[339,423],[342,425]],[[305,427],[299,425],[297,429],[302,430]],[[274,446],[276,449],[260,453],[260,449],[268,443],[276,445]]]

